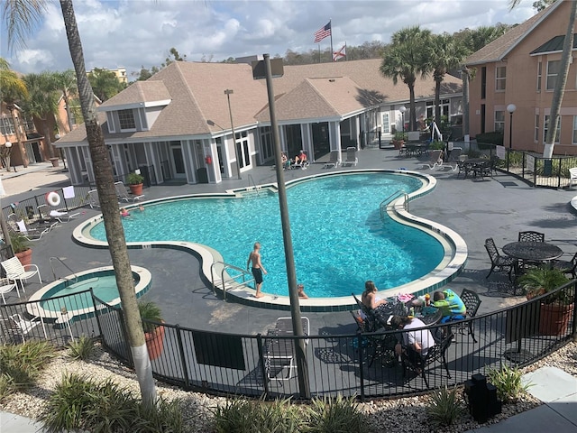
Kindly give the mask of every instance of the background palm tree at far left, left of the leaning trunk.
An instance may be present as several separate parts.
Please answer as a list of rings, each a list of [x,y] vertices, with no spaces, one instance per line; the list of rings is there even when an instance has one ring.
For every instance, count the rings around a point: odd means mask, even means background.
[[[28,97],[23,101],[23,112],[40,121],[44,143],[49,152],[50,159],[54,158],[52,148],[52,126],[55,116],[58,115],[58,102],[60,99],[58,83],[54,74],[42,72],[41,74],[28,74],[24,76]]]

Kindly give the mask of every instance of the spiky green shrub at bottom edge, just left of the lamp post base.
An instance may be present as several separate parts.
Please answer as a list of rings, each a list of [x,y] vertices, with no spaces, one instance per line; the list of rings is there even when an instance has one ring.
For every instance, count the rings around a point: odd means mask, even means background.
[[[271,403],[232,399],[214,410],[215,432],[252,431],[258,433],[293,433],[301,431],[299,410],[289,400]]]

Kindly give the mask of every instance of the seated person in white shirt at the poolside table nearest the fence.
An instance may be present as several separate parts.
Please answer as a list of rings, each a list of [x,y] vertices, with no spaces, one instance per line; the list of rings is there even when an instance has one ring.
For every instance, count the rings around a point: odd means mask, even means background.
[[[409,316],[391,316],[387,323],[394,329],[416,329],[426,327],[419,318]],[[408,357],[408,361],[415,365],[417,369],[422,368],[422,360],[428,350],[435,345],[435,339],[428,329],[420,331],[408,331],[402,333],[402,342],[395,346],[397,355]]]

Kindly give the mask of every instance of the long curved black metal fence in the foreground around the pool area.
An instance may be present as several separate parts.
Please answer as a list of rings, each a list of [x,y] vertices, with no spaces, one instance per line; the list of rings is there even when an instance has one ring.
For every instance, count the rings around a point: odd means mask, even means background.
[[[571,281],[554,292],[508,309],[427,327],[433,334],[451,327],[456,336],[444,352],[449,374],[442,359],[435,361],[425,369],[428,385],[452,386],[463,383],[473,373],[485,374],[503,364],[531,364],[564,345],[577,332],[576,283]],[[91,313],[59,319],[62,308],[86,309],[87,303],[91,304]],[[52,317],[34,318],[39,308],[50,310]],[[90,291],[4,305],[0,306],[0,313],[5,342],[33,337],[63,345],[76,336],[99,336],[108,351],[125,364],[133,364],[122,309],[96,299]],[[24,332],[14,318],[36,324]],[[245,336],[155,325],[162,332],[159,341],[149,343],[149,353],[154,375],[164,382],[186,390],[265,395],[270,399],[303,395],[293,350],[297,337]],[[386,331],[301,337],[306,343],[310,396],[373,398],[425,392],[423,376],[404,372],[393,346],[386,344],[396,341],[399,334]]]

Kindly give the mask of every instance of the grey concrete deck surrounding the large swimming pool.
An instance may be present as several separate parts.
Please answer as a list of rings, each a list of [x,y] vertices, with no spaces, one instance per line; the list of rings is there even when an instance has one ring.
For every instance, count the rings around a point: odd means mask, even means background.
[[[574,230],[577,214],[570,205],[575,189],[534,189],[522,180],[500,172],[492,179],[458,179],[452,170],[419,170],[424,159],[398,158],[398,151],[393,149],[365,149],[359,152],[358,157],[357,168],[406,168],[435,176],[436,189],[431,194],[412,201],[410,212],[417,217],[443,224],[463,236],[469,250],[468,262],[465,271],[447,287],[457,293],[463,288],[479,293],[482,300],[480,313],[507,307],[525,299],[523,296],[513,296],[513,288],[508,284],[506,274],[494,272],[490,279],[485,279],[490,269],[489,257],[484,249],[487,237],[493,237],[501,247],[516,241],[517,232],[520,230],[536,230],[544,232],[547,242],[557,244],[569,256],[577,250]],[[285,180],[334,170],[323,168],[327,159],[328,155],[325,155],[307,170],[285,171]],[[276,173],[270,166],[256,167],[249,173],[257,185],[276,181]],[[151,187],[145,189],[144,199],[243,188],[248,186],[249,173],[243,173],[243,180],[224,180],[218,185]],[[20,178],[26,182],[26,175]],[[62,183],[62,186],[67,185],[68,182]],[[54,184],[51,188],[54,188]],[[39,189],[33,193],[39,194],[48,190],[50,189]],[[31,194],[5,198],[5,203],[30,197]],[[89,249],[71,240],[72,230],[83,218],[96,217],[99,213],[89,207],[82,209],[82,212],[76,221],[60,224],[48,235],[42,236],[40,241],[32,244],[32,263],[40,266],[44,284],[54,279],[50,269],[50,256],[60,257],[75,272],[111,264],[106,250]],[[314,240],[311,242],[314,244]],[[247,254],[250,246],[247,247]],[[256,334],[266,333],[266,329],[274,327],[276,318],[286,315],[286,311],[257,309],[231,302],[230,299],[224,301],[216,298],[207,287],[206,281],[200,278],[200,263],[197,258],[188,253],[146,249],[131,250],[130,256],[133,264],[151,271],[151,290],[143,299],[157,301],[169,323],[178,323],[182,327]],[[343,263],[343,266],[350,265],[351,263]],[[69,274],[68,270],[57,266],[55,272],[56,277]],[[367,279],[371,278],[373,276],[367,276]],[[44,284],[30,281],[26,285],[26,296],[30,296]],[[361,290],[362,288],[359,291]],[[263,291],[266,292],[266,281]],[[17,299],[15,293],[11,293],[6,300],[15,302]],[[354,332],[356,328],[348,311],[307,312],[306,316],[311,322],[311,333],[341,334]]]

